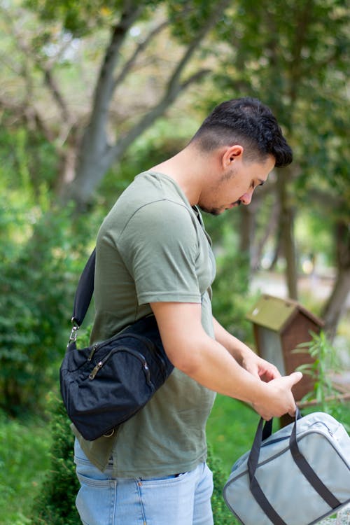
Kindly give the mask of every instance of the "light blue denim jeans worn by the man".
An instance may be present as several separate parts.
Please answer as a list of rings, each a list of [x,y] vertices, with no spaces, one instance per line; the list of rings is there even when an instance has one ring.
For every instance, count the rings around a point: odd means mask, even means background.
[[[76,507],[84,525],[213,525],[213,476],[206,463],[160,478],[113,477],[74,448],[80,490]]]

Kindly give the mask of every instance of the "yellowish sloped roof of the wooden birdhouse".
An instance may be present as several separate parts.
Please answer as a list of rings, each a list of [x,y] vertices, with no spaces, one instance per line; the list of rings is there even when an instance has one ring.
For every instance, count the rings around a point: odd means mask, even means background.
[[[320,318],[311,314],[297,301],[266,294],[260,297],[246,318],[254,324],[265,326],[274,332],[281,332],[298,314],[306,316],[318,326],[323,326]]]

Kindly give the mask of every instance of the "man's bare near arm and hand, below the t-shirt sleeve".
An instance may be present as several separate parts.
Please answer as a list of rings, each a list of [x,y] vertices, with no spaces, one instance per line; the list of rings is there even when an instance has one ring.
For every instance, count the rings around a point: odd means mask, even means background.
[[[211,390],[250,403],[264,419],[294,414],[291,388],[300,381],[300,372],[261,381],[239,365],[221,342],[207,335],[200,304],[154,302],[151,307],[165,351],[176,368]]]

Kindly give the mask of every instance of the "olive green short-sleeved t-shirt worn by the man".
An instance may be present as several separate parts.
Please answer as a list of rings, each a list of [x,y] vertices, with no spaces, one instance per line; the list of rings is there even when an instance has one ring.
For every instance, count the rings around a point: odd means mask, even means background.
[[[202,304],[202,325],[214,337],[214,276],[214,255],[199,211],[170,177],[140,174],[99,230],[91,342],[151,313],[150,302]],[[205,426],[214,398],[214,392],[174,369],[151,401],[112,437],[87,442],[74,431],[101,470],[113,456],[117,476],[186,472],[207,456]]]

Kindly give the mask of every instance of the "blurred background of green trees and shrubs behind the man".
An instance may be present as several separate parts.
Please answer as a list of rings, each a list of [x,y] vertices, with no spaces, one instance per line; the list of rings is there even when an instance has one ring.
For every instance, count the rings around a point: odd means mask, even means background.
[[[267,104],[294,162],[249,207],[204,215],[214,313],[255,347],[260,294],[297,300],[350,369],[349,13],[339,0],[0,1],[3,509],[48,469],[48,393],[100,223],[225,99]],[[225,431],[209,432],[219,450]],[[16,505],[1,523],[31,522]]]

